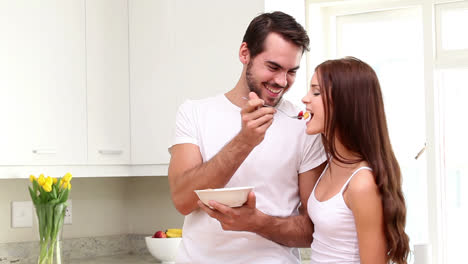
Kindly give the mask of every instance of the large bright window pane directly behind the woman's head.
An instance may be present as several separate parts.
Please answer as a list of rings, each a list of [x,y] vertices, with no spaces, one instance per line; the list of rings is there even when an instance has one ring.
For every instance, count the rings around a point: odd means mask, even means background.
[[[377,73],[390,139],[403,175],[407,233],[427,241],[423,39],[419,8],[336,15],[336,57],[354,56]]]

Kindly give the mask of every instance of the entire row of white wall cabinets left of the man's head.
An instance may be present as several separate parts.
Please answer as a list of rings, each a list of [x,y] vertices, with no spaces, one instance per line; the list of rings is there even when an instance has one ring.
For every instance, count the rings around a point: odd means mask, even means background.
[[[0,178],[167,175],[178,106],[235,85],[242,36],[263,9],[0,1]]]

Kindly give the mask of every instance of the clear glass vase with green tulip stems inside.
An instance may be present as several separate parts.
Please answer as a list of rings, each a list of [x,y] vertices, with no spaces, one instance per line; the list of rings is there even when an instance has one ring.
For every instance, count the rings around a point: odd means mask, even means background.
[[[39,226],[39,256],[37,264],[62,264],[62,229],[64,203],[35,205]]]

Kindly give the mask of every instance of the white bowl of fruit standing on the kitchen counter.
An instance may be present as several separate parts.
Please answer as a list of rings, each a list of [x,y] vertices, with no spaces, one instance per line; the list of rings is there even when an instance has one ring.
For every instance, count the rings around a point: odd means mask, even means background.
[[[152,238],[145,237],[148,251],[161,263],[175,263],[177,250],[179,249],[180,237]]]

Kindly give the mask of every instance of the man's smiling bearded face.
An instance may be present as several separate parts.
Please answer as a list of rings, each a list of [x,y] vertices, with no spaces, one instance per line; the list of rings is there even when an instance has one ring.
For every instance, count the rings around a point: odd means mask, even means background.
[[[284,40],[276,33],[265,39],[264,51],[247,64],[246,80],[266,105],[275,106],[296,79],[302,48]]]

